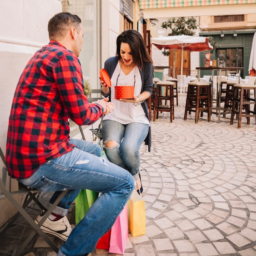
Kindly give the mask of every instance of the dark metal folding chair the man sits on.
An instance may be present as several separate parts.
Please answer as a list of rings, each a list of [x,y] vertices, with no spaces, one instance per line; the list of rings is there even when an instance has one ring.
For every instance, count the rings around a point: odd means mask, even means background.
[[[41,225],[45,220],[48,218],[48,216],[52,213],[54,208],[57,206],[57,204],[61,201],[61,199],[65,196],[68,190],[65,190],[61,193],[61,195],[57,198],[57,200],[52,204],[51,207],[47,210],[43,204],[41,204],[38,200],[40,192],[37,189],[29,188],[18,182],[18,189],[13,191],[13,185],[17,185],[17,180],[12,179],[9,177],[7,179],[8,171],[7,171],[7,165],[4,159],[4,154],[2,152],[2,149],[0,148],[0,155],[2,158],[2,161],[4,163],[4,167],[2,169],[2,179],[0,179],[0,199],[7,198],[13,207],[18,211],[1,229],[0,231],[0,237],[7,231],[7,229],[14,225],[14,222],[17,220],[18,217],[22,216],[26,222],[34,229],[29,236],[25,239],[25,241],[20,245],[17,244],[16,248],[13,251],[13,256],[20,256],[24,249],[27,247],[27,245],[30,243],[32,238],[38,234],[41,236],[45,242],[57,253],[59,248],[57,245],[43,232],[42,229],[40,229]],[[7,180],[9,180],[9,185],[7,186]],[[14,184],[15,183],[15,184]],[[22,205],[17,200],[18,195],[25,195],[25,200]],[[33,220],[33,218],[29,215],[29,213],[26,211],[26,207],[28,204],[34,201],[40,209],[42,209],[43,218],[40,220],[38,224],[36,224]],[[23,232],[22,232],[23,233]],[[22,240],[22,239],[21,239]]]

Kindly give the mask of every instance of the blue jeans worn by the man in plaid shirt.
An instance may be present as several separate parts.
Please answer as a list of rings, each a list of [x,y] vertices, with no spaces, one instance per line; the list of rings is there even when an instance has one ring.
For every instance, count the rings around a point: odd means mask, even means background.
[[[69,189],[55,213],[67,212],[81,189],[102,192],[57,254],[85,256],[93,252],[99,238],[112,227],[124,209],[135,188],[135,180],[123,168],[98,157],[101,155],[99,145],[77,139],[70,141],[77,148],[48,161],[20,182],[42,191],[59,191],[54,193],[51,201],[60,191]]]

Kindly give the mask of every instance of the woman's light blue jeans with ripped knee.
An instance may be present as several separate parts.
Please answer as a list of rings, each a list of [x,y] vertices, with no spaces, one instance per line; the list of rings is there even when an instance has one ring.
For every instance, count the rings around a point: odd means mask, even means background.
[[[129,171],[137,180],[139,172],[139,148],[148,134],[148,124],[121,124],[117,121],[104,120],[101,134],[103,149],[110,162]],[[117,146],[108,148],[105,143],[117,141]]]

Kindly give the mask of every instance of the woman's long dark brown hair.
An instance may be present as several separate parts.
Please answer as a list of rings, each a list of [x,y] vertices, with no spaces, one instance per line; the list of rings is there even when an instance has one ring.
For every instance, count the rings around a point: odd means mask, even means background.
[[[143,61],[153,63],[141,34],[135,29],[127,29],[117,37],[117,53],[121,58],[121,43],[128,43],[132,52],[132,59],[135,65],[142,70]]]

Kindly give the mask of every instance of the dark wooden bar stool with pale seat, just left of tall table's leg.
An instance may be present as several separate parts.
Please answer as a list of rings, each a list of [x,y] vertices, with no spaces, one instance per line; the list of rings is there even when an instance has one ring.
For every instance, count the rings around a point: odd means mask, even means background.
[[[198,123],[199,113],[208,114],[208,122],[211,121],[211,90],[210,84],[203,81],[193,81],[188,83],[188,92],[186,96],[186,107],[184,120],[187,113],[195,112],[195,123]]]

